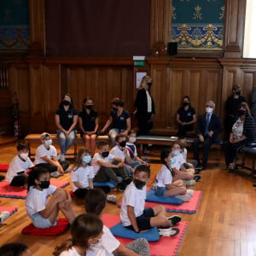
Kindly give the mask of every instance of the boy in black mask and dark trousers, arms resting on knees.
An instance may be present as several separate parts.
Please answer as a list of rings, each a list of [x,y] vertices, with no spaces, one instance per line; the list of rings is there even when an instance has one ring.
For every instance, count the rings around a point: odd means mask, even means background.
[[[109,154],[108,143],[98,143],[98,153],[91,160],[91,165],[94,168],[94,181],[97,183],[105,183],[109,180],[117,183],[117,189],[124,191],[127,184],[131,183],[131,178],[125,172],[124,160]],[[119,181],[120,176],[123,181]]]

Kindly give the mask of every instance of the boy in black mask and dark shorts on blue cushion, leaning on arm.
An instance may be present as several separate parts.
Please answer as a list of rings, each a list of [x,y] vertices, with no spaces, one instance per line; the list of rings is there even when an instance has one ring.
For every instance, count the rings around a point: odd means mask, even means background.
[[[152,227],[172,227],[181,218],[172,216],[166,218],[166,209],[163,206],[144,209],[147,195],[146,183],[150,177],[148,166],[137,166],[133,174],[133,182],[125,189],[120,218],[125,228],[140,232]]]

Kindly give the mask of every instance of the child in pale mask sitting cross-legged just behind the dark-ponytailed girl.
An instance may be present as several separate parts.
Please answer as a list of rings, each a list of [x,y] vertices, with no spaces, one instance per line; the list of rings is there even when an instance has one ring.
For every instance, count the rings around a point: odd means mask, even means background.
[[[186,166],[183,154],[181,154],[181,146],[179,143],[172,144],[172,153],[174,154],[172,162],[172,170],[175,172],[175,177],[173,180],[182,179],[186,185],[192,186],[195,185],[196,181],[201,179],[201,176],[195,174],[195,169]]]

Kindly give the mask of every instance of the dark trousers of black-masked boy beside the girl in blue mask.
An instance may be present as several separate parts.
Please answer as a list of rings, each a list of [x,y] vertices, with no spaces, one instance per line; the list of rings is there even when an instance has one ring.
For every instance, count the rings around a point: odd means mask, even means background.
[[[97,172],[93,181],[95,181],[96,183],[105,183],[111,179],[113,180],[113,182],[119,183],[119,179],[117,176],[122,177],[124,180],[128,178],[125,172],[125,169],[123,167],[110,168],[110,167],[102,166],[100,170]]]

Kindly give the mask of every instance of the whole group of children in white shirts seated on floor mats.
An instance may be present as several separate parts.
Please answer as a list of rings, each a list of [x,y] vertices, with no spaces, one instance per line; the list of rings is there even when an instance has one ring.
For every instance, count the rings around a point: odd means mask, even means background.
[[[105,142],[98,143],[97,153],[93,157],[89,149],[79,150],[71,172],[72,189],[74,195],[85,197],[87,214],[79,215],[77,218],[71,207],[71,197],[67,190],[57,189],[49,184],[53,172],[64,172],[57,160],[56,150],[51,145],[49,133],[44,132],[41,135],[42,144],[37,149],[34,167],[28,158],[27,146],[18,145],[18,154],[9,165],[7,177],[11,185],[19,184],[27,187],[26,211],[32,218],[34,226],[41,229],[55,226],[60,211],[72,224],[72,240],[56,247],[55,255],[73,255],[74,251],[96,255],[96,252],[101,250],[107,251],[109,255],[113,255],[114,251],[117,252],[114,255],[121,255],[129,249],[135,252],[131,255],[148,255],[147,241],[133,241],[124,247],[113,237],[108,228],[102,225],[100,217],[106,204],[105,193],[110,189],[94,189],[93,182],[104,183],[111,180],[117,183],[120,191],[125,190],[120,218],[126,229],[138,233],[158,227],[169,228],[172,231],[170,236],[178,233],[178,230],[173,229],[172,226],[181,220],[179,216],[166,218],[166,209],[160,205],[144,208],[150,168],[145,160],[137,157],[135,141],[136,132],[131,131],[128,143],[124,135],[116,137],[116,146],[112,148],[110,154],[108,143]],[[186,184],[193,185],[201,177],[194,176],[195,166],[186,162],[183,157],[184,151],[182,143],[173,143],[172,148],[161,151],[160,160],[163,165],[155,179],[155,195],[176,196],[183,201],[189,201],[193,195],[194,191],[186,189]],[[127,172],[125,166],[129,166],[126,168]],[[29,168],[32,170],[27,174]]]

